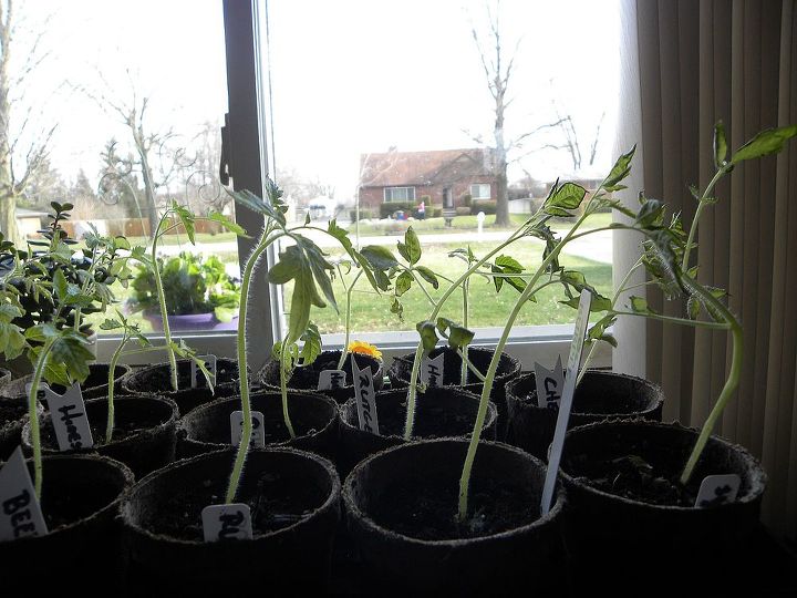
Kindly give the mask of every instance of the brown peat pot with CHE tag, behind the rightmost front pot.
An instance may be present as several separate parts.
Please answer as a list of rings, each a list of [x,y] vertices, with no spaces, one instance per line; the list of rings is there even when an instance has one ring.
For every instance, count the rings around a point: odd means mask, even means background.
[[[548,461],[559,410],[537,404],[537,378],[525,373],[506,385],[509,412],[507,442]],[[587,370],[576,389],[568,429],[607,417],[661,421],[664,393],[649,380],[602,370]]]

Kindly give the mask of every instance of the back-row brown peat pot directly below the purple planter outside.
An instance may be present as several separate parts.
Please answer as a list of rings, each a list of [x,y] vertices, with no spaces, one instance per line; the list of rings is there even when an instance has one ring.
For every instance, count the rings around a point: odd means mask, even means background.
[[[127,394],[156,394],[172,399],[177,403],[180,415],[192,409],[209,403],[222,396],[230,396],[238,392],[238,362],[227,358],[216,360],[216,384],[214,392],[204,385],[190,388],[192,360],[177,360],[177,388],[172,390],[172,374],[168,363],[156,363],[135,370],[122,380],[122,389]],[[198,373],[200,384],[205,378]]]

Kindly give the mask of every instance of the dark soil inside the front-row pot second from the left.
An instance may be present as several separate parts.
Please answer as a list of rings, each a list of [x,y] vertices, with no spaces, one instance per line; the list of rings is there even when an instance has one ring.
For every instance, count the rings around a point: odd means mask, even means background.
[[[185,488],[164,502],[147,527],[169,537],[203,542],[201,511],[221,504],[226,480],[206,480],[201,488]],[[236,502],[249,505],[255,537],[298,523],[319,508],[329,495],[307,478],[290,474],[267,473],[257,482],[255,495],[239,496]]]

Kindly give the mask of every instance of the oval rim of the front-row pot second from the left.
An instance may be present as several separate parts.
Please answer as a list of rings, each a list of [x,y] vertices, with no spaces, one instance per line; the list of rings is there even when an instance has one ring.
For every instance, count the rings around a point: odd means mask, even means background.
[[[190,458],[184,458],[180,461],[176,461],[174,463],[170,463],[166,467],[163,467],[161,470],[156,470],[144,477],[142,477],[138,482],[130,486],[125,493],[121,496],[121,502],[118,505],[118,513],[120,517],[122,518],[122,522],[124,526],[128,529],[132,529],[136,534],[141,534],[148,539],[153,542],[158,543],[167,543],[173,546],[208,546],[209,544],[214,543],[206,543],[203,540],[187,540],[183,538],[175,538],[172,536],[167,536],[165,534],[156,534],[154,532],[151,532],[149,529],[146,529],[145,527],[142,527],[137,523],[133,523],[131,520],[130,514],[127,513],[127,506],[132,504],[132,501],[134,498],[134,495],[136,492],[141,491],[145,485],[151,484],[153,480],[155,480],[158,476],[169,475],[175,470],[178,470],[180,467],[189,467],[194,465],[198,461],[203,460],[211,460],[217,458],[222,455],[229,454],[230,457],[235,458],[235,454],[237,453],[237,447],[227,447],[221,448],[219,451],[211,451],[209,453],[203,453],[201,455],[197,455]],[[268,542],[273,538],[278,538],[280,536],[284,536],[288,534],[292,534],[293,530],[300,526],[304,526],[308,524],[311,524],[313,520],[322,517],[331,508],[334,508],[334,505],[340,499],[341,495],[341,481],[340,476],[338,475],[338,471],[334,468],[334,465],[332,463],[322,457],[321,455],[318,455],[315,453],[311,453],[309,451],[300,451],[298,448],[292,448],[288,446],[275,446],[270,447],[267,446],[266,448],[249,448],[249,453],[247,455],[247,461],[252,456],[252,454],[263,454],[263,453],[283,453],[293,455],[297,457],[303,457],[310,461],[315,462],[318,465],[321,466],[321,470],[329,475],[330,482],[331,482],[331,488],[329,492],[329,495],[324,499],[324,502],[315,507],[308,516],[302,517],[296,523],[292,523],[291,525],[287,527],[282,527],[280,529],[277,529],[276,532],[269,532],[267,534],[260,534],[256,535],[250,542],[258,543],[258,542]],[[224,547],[224,543],[215,543],[218,544],[220,547]]]

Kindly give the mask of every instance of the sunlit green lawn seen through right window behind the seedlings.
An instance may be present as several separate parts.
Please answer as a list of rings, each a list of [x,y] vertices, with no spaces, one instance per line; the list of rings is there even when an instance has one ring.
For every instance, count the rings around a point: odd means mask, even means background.
[[[477,256],[482,256],[494,247],[491,244],[474,244],[472,249]],[[424,246],[424,257],[421,264],[427,266],[435,272],[443,272],[448,277],[457,277],[465,270],[465,262],[449,258],[448,251],[456,249],[456,244],[439,244]],[[540,246],[530,243],[522,243],[513,246],[506,251],[527,268],[536,270],[541,261],[542,250]],[[601,293],[611,293],[612,271],[611,265],[592,261],[589,259],[565,256],[561,260],[567,268],[575,268],[583,272],[587,280]],[[441,289],[435,291],[429,287],[429,293],[436,299],[441,297],[446,288],[442,282]],[[333,285],[335,298],[339,301],[341,313],[335,313],[330,307],[325,309],[313,308],[312,320],[318,324],[321,332],[344,331],[345,293],[340,280]],[[290,310],[290,292],[292,286],[286,286],[286,303]],[[518,292],[505,285],[500,292],[496,292],[493,281],[482,277],[472,279],[470,285],[470,321],[472,328],[500,327],[517,301]],[[561,287],[549,287],[537,296],[537,302],[529,302],[520,312],[517,326],[569,323],[575,320],[576,312],[572,308],[559,303],[561,299]],[[414,330],[415,324],[428,318],[432,306],[415,286],[402,297],[404,305],[404,321],[390,312],[392,296],[379,296],[373,292],[368,281],[363,278],[358,281],[355,291],[352,293],[352,330],[354,331],[387,331],[387,330]],[[441,316],[454,321],[462,322],[462,292],[455,292],[448,300]]]

